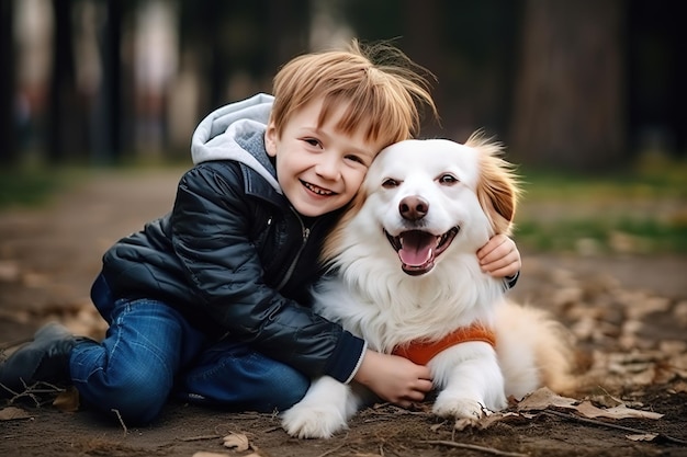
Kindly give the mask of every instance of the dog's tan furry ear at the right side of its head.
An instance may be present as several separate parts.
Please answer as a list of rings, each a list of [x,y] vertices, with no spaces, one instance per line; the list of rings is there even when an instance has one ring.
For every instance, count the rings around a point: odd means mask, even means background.
[[[484,138],[481,133],[473,134],[465,146],[478,152],[477,198],[487,214],[494,233],[510,235],[520,195],[515,167],[500,157],[502,145]]]

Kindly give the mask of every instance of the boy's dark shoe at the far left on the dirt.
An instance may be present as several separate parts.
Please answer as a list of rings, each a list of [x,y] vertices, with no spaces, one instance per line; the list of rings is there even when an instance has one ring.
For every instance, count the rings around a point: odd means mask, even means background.
[[[0,397],[22,393],[36,382],[70,385],[69,355],[79,340],[55,322],[38,329],[33,341],[0,365]]]

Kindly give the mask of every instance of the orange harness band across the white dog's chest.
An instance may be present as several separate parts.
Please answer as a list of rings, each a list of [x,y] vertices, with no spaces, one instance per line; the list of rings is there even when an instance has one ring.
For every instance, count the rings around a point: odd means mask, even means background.
[[[492,346],[496,346],[496,334],[492,329],[474,323],[470,327],[460,328],[439,341],[410,341],[407,344],[394,347],[392,354],[405,357],[418,365],[427,365],[441,351],[470,341],[483,341]]]

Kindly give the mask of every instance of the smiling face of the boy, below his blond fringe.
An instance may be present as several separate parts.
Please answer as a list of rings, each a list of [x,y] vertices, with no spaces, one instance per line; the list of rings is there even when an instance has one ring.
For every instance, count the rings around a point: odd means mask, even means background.
[[[322,100],[296,111],[281,137],[272,123],[264,134],[267,152],[277,158],[277,179],[303,216],[322,216],[351,201],[383,145],[367,142],[362,128],[349,136],[335,128],[346,106],[317,127]]]

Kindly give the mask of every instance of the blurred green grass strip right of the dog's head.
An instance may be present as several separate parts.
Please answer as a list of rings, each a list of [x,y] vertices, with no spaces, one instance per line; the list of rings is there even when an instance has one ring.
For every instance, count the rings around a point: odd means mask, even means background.
[[[520,171],[515,239],[523,249],[582,254],[687,254],[687,163],[607,175]]]

